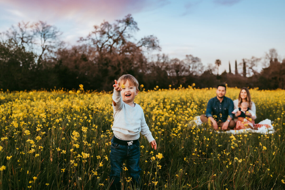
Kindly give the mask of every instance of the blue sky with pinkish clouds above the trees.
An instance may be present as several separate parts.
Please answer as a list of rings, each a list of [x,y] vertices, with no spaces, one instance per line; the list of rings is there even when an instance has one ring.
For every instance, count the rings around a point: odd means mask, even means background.
[[[158,38],[161,51],[153,54],[192,54],[205,66],[220,59],[219,73],[228,72],[229,62],[234,72],[235,60],[262,58],[271,48],[285,58],[284,8],[284,0],[0,0],[0,32],[21,21],[46,21],[76,45],[94,25],[131,14],[140,29],[137,40]]]

